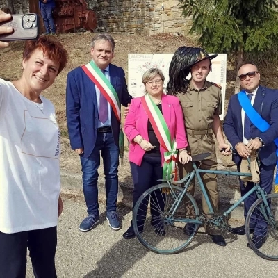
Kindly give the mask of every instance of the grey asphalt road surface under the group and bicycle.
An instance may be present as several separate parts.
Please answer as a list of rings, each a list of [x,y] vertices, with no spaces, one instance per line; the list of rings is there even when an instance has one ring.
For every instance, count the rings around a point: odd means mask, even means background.
[[[131,220],[130,208],[120,207],[123,227],[113,231],[108,227],[105,207],[101,204],[98,226],[88,233],[81,233],[78,226],[86,216],[83,200],[65,199],[64,202],[56,254],[59,278],[277,278],[278,262],[256,256],[246,247],[245,236],[228,234],[227,247],[218,247],[208,236],[200,234],[180,254],[159,255],[146,250],[137,239],[122,238]],[[28,263],[27,278],[31,277]]]

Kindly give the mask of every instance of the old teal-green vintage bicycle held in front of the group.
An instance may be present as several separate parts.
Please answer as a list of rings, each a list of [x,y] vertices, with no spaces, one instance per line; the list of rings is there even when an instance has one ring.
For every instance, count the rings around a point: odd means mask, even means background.
[[[234,152],[234,150],[233,150]],[[278,194],[267,195],[259,183],[236,204],[224,213],[215,213],[202,182],[201,173],[224,174],[227,176],[251,176],[250,173],[222,170],[202,170],[197,168],[196,162],[203,161],[211,154],[193,156],[193,171],[180,181],[163,181],[161,184],[146,190],[133,209],[133,229],[145,247],[158,254],[174,254],[186,248],[193,241],[201,225],[209,225],[218,233],[231,231],[229,215],[250,194],[256,192],[258,199],[252,204],[245,220],[245,230],[248,243],[252,250],[264,259],[278,261]],[[197,181],[206,199],[209,214],[199,213],[199,208],[192,195],[188,193],[190,181],[197,177]],[[255,233],[250,227],[255,226],[258,218],[263,220],[262,227],[256,227]],[[183,228],[192,223],[192,233],[185,233]],[[265,243],[259,249],[254,245],[256,235],[265,236]],[[255,237],[255,238],[254,238]]]

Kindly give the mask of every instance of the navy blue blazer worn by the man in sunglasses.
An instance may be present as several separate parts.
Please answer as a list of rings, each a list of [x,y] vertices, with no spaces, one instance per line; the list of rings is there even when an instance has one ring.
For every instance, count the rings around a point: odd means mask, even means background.
[[[264,165],[273,165],[277,160],[276,145],[273,141],[278,138],[278,90],[259,86],[253,107],[270,124],[270,128],[262,133],[254,124],[251,124],[250,132],[252,138],[259,137],[265,142],[265,147],[262,147],[259,152],[259,158]],[[243,142],[241,106],[237,95],[231,96],[223,128],[227,139],[233,147],[238,142]],[[233,161],[239,165],[240,156],[233,155]]]

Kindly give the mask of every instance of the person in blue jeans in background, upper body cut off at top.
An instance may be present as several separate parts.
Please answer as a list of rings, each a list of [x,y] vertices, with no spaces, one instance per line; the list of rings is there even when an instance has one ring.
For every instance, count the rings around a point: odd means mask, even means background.
[[[55,8],[54,0],[40,0],[39,8],[44,22],[45,35],[55,34],[56,28],[52,17],[52,10]]]

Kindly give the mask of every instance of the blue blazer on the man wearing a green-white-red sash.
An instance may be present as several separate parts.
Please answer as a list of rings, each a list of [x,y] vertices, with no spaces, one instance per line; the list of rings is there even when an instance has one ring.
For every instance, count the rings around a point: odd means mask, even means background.
[[[110,64],[110,82],[115,88],[120,104],[127,106],[131,95],[127,91],[126,79],[122,67]],[[92,154],[97,139],[97,96],[95,84],[77,67],[67,74],[66,89],[67,128],[72,149],[83,148],[83,157]],[[111,108],[111,127],[116,145],[119,145],[120,124]]]

